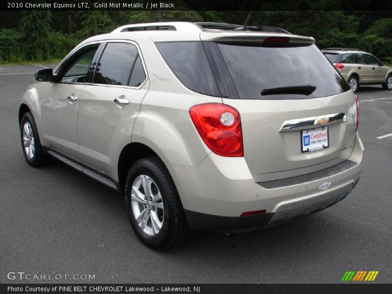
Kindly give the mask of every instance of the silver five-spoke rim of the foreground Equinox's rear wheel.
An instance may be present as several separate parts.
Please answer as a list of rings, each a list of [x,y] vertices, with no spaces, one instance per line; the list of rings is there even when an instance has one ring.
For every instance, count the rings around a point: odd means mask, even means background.
[[[133,182],[131,191],[133,216],[139,227],[149,236],[157,235],[163,226],[162,196],[155,182],[141,174]]]

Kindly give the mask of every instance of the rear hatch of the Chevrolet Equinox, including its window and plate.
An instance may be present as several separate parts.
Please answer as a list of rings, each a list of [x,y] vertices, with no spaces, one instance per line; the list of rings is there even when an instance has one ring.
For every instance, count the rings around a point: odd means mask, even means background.
[[[202,34],[217,44],[234,82],[237,99],[223,103],[240,113],[256,182],[316,172],[349,157],[355,97],[313,39]]]

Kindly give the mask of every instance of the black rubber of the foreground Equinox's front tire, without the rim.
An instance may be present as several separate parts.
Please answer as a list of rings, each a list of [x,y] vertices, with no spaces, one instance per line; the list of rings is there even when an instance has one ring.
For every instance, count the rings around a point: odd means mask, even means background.
[[[28,124],[26,124],[28,123]],[[33,138],[34,142],[34,152],[33,155],[29,156],[25,149],[25,142],[24,142],[24,127],[25,124],[30,126],[32,134],[28,136],[30,139]],[[32,141],[32,140],[30,140]],[[38,135],[37,125],[35,124],[34,118],[31,112],[26,112],[21,121],[21,143],[22,143],[22,150],[23,154],[25,155],[25,159],[27,163],[33,167],[40,167],[47,163],[47,156],[45,154],[44,149],[41,146],[41,141]],[[31,154],[31,153],[30,153]]]

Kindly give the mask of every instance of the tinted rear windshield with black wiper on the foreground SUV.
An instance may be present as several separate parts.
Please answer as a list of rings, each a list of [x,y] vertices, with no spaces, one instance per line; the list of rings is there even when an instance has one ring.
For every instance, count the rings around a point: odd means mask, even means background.
[[[299,99],[331,96],[350,87],[316,45],[266,46],[262,44],[218,44],[238,94],[242,99]],[[266,88],[310,84],[309,95],[261,96]]]

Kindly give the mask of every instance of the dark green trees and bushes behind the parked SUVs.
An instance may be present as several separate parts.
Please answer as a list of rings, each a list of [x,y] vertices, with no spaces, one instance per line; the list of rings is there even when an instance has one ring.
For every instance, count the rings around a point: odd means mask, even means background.
[[[87,1],[90,6],[94,5],[92,0]],[[147,3],[147,0],[141,1]],[[300,2],[304,11],[254,11],[249,25],[278,26],[294,34],[314,37],[319,48],[360,48],[385,61],[392,60],[392,18],[388,13],[315,10],[339,9],[336,0]],[[243,25],[249,13],[242,10],[241,1],[235,4],[237,11],[194,11],[187,7],[189,4],[178,3],[176,11],[32,10],[13,12],[12,15],[0,12],[0,25],[3,27],[0,30],[0,62],[62,58],[81,40],[125,24],[190,21]]]

